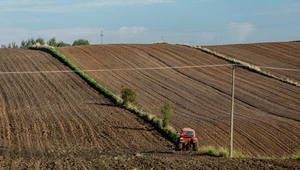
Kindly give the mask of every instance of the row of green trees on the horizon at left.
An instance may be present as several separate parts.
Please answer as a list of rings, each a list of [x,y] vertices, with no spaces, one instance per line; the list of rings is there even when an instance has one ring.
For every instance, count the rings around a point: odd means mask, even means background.
[[[28,40],[22,40],[20,46],[18,46],[18,44],[16,42],[12,42],[9,43],[7,46],[2,45],[2,48],[6,47],[6,48],[29,48],[32,45],[36,45],[36,44],[40,44],[40,45],[49,45],[49,46],[53,46],[53,47],[67,47],[67,46],[79,46],[79,45],[90,45],[90,42],[88,40],[85,39],[78,39],[75,40],[73,42],[73,44],[68,44],[66,42],[63,41],[56,41],[55,37],[52,37],[49,41],[45,42],[45,40],[41,37],[34,39],[34,38],[29,38]]]

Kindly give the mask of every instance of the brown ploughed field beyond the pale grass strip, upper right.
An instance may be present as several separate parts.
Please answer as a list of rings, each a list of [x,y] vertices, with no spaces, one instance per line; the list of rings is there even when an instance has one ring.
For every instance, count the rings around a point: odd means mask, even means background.
[[[300,69],[299,42],[220,45],[207,48],[257,66]],[[261,69],[300,83],[299,71]]]

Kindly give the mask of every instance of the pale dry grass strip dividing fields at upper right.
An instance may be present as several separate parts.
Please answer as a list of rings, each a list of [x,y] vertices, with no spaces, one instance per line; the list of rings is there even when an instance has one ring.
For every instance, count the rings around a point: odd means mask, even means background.
[[[190,48],[200,50],[204,53],[207,53],[207,54],[213,55],[215,57],[218,57],[220,59],[229,61],[230,63],[235,64],[235,65],[237,65],[239,67],[242,67],[244,69],[247,69],[249,71],[258,73],[258,74],[263,75],[263,76],[267,76],[269,78],[279,80],[281,82],[284,82],[284,83],[287,83],[287,84],[290,84],[290,85],[293,85],[293,86],[296,86],[296,87],[300,87],[300,83],[298,83],[296,81],[293,81],[293,80],[290,80],[290,79],[280,78],[280,77],[275,76],[275,75],[273,75],[269,72],[262,71],[259,66],[256,66],[256,65],[253,65],[253,64],[250,64],[250,63],[247,63],[247,62],[244,62],[242,60],[238,60],[238,59],[235,59],[235,58],[232,58],[232,57],[228,57],[226,55],[223,55],[223,54],[218,53],[216,51],[210,50],[208,48],[205,48],[205,47],[202,47],[202,46],[192,46],[192,45],[188,45],[188,44],[177,44],[177,45],[183,45],[183,46],[187,46],[187,47],[190,47]]]

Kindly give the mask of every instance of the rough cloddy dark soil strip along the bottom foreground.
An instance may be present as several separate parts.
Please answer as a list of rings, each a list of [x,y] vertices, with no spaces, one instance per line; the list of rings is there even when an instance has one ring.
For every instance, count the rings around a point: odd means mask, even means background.
[[[83,154],[75,157],[10,158],[4,169],[299,169],[296,160],[229,159],[190,153]]]

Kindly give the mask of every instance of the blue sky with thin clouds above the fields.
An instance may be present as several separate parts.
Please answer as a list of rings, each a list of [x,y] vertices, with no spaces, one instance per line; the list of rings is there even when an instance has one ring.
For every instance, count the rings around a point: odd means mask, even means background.
[[[166,41],[220,45],[300,40],[300,0],[1,0],[0,44]]]

